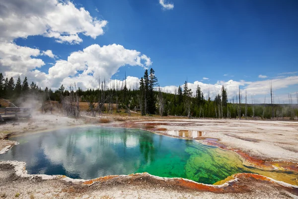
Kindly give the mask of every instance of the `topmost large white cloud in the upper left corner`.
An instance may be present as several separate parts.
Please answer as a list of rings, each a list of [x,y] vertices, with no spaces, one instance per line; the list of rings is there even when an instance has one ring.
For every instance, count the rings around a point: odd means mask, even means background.
[[[90,15],[71,1],[4,0],[0,2],[0,41],[43,35],[57,42],[82,42],[79,33],[96,38],[104,33],[106,20]]]

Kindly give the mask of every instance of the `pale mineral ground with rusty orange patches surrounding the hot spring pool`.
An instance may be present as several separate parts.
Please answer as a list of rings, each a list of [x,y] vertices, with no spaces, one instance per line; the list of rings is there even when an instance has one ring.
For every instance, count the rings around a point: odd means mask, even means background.
[[[62,114],[36,113],[33,118],[0,125],[0,153],[13,146],[13,134],[90,124],[141,128],[151,132],[236,151],[244,161],[260,167],[298,171],[298,122],[214,120],[105,115],[79,119]],[[210,139],[212,138],[212,139]],[[0,197],[15,198],[298,198],[289,186],[255,174],[236,174],[227,183],[209,186],[149,174],[103,177],[77,182],[65,177],[28,175],[24,163],[0,162]],[[90,186],[91,185],[91,186]]]

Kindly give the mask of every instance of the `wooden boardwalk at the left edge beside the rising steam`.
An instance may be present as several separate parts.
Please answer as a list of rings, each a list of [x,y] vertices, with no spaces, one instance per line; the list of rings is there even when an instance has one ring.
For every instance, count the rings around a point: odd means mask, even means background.
[[[20,117],[31,117],[31,108],[0,108],[0,121]]]

